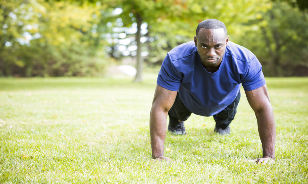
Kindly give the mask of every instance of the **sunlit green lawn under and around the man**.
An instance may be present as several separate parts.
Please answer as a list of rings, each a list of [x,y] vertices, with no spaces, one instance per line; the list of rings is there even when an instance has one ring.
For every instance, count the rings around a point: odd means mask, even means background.
[[[0,183],[308,183],[308,78],[266,78],[276,160],[262,156],[242,91],[231,134],[192,115],[151,158],[155,73],[132,78],[0,78]]]

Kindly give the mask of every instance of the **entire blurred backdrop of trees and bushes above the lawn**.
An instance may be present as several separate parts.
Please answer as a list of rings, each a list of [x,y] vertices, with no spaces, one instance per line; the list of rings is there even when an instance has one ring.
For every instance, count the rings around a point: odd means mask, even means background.
[[[208,18],[265,76],[308,76],[307,0],[0,0],[0,76],[103,77],[130,65],[141,81]]]

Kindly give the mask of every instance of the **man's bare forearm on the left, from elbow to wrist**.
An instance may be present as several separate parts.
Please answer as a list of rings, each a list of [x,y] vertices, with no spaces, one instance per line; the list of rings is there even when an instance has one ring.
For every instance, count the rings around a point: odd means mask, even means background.
[[[152,107],[150,113],[150,134],[152,157],[164,157],[164,142],[166,137],[166,118],[168,111]]]

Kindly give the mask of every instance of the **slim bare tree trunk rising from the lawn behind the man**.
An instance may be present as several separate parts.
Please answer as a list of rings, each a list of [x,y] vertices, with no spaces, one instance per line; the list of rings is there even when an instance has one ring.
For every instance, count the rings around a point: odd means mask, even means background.
[[[137,33],[136,33],[136,41],[137,41],[137,73],[134,82],[141,82],[142,81],[142,65],[143,65],[143,58],[141,57],[141,24],[142,18],[140,14],[136,14],[137,19]]]

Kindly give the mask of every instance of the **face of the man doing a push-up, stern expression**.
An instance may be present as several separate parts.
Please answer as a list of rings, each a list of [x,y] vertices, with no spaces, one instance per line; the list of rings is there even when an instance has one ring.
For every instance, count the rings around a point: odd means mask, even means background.
[[[205,67],[219,66],[229,41],[224,29],[201,28],[194,40],[202,64]]]

